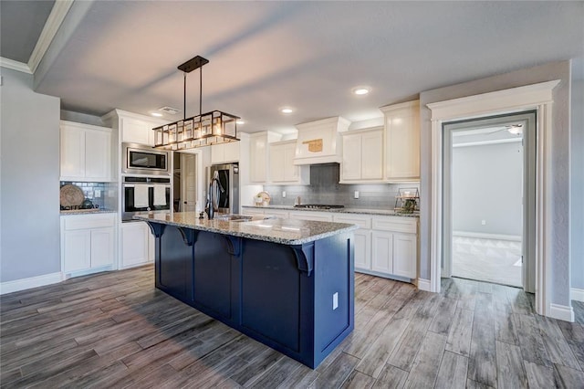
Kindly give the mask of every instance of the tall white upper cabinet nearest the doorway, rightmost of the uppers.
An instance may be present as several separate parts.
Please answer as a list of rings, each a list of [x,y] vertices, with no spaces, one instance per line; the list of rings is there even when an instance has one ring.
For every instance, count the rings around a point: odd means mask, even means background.
[[[380,110],[385,115],[385,180],[420,181],[420,101]]]

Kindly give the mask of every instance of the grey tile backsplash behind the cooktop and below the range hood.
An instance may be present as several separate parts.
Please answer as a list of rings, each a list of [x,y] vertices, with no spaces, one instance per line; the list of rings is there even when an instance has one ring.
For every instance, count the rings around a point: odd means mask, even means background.
[[[408,184],[339,184],[339,163],[310,166],[309,185],[265,185],[270,205],[294,205],[298,196],[302,204],[345,205],[351,208],[393,209],[399,188],[420,188]],[[282,192],[286,191],[286,197]],[[359,191],[359,198],[354,198]]]

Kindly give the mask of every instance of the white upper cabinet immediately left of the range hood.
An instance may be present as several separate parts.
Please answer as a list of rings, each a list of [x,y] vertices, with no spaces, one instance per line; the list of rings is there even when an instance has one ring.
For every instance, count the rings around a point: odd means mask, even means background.
[[[294,164],[296,140],[269,144],[269,177],[274,184],[310,184],[310,168]]]

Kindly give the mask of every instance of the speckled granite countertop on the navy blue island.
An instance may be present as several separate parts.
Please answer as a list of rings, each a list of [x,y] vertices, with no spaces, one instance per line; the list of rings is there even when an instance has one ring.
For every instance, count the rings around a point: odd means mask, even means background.
[[[151,221],[169,226],[182,226],[201,231],[215,232],[233,237],[248,237],[282,245],[301,245],[325,237],[332,237],[358,229],[346,223],[316,222],[309,220],[280,219],[255,216],[250,221],[226,221],[200,219],[196,212],[168,214],[141,214],[134,219]]]

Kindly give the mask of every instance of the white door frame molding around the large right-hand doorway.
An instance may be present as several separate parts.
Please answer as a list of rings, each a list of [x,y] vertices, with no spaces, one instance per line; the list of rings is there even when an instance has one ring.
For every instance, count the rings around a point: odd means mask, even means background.
[[[443,121],[461,121],[524,110],[537,111],[536,311],[550,316],[553,89],[560,80],[427,104],[432,111],[430,290],[440,292],[443,241]]]

